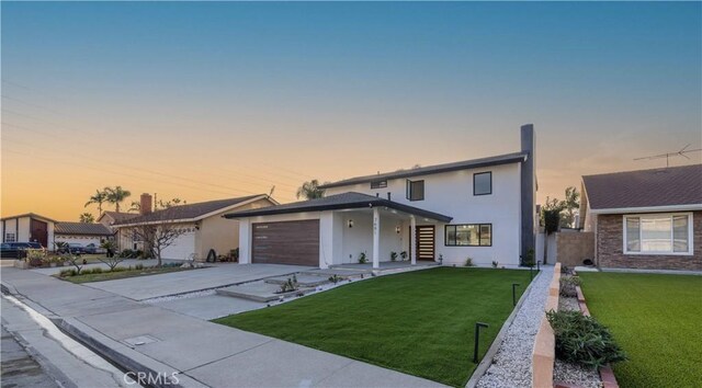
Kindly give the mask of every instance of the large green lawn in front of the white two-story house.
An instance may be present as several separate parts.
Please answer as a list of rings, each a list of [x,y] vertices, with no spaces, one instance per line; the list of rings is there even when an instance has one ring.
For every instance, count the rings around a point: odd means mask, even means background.
[[[440,267],[352,283],[280,306],[214,320],[451,386],[473,364],[475,322],[480,357],[512,311],[529,272]]]

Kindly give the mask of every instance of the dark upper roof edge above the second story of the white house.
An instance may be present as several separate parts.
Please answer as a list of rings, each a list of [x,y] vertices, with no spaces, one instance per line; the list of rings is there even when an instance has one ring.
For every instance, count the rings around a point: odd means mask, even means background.
[[[395,172],[385,172],[382,174],[356,176],[356,178],[351,178],[351,179],[347,179],[338,182],[326,183],[326,184],[319,185],[319,189],[338,187],[338,186],[346,186],[350,184],[367,183],[373,181],[384,181],[388,179],[435,174],[440,172],[449,172],[449,171],[457,171],[457,170],[477,169],[477,168],[488,167],[488,166],[517,163],[517,162],[525,161],[528,156],[529,155],[525,152],[512,152],[512,153],[498,155],[496,157],[489,157],[489,158],[472,159],[472,160],[464,160],[464,161],[458,161],[453,163],[421,167],[421,168],[411,169],[411,170],[399,170]]]

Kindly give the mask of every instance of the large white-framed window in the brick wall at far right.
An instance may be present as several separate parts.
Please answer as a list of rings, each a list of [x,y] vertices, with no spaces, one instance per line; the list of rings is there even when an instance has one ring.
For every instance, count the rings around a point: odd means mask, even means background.
[[[690,214],[624,216],[624,253],[692,254]]]

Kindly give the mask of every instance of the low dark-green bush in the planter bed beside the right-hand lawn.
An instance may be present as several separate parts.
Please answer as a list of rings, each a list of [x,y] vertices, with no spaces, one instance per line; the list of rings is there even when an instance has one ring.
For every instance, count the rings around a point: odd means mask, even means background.
[[[568,363],[598,368],[626,361],[609,329],[580,311],[548,311],[548,322],[556,335],[556,357]]]

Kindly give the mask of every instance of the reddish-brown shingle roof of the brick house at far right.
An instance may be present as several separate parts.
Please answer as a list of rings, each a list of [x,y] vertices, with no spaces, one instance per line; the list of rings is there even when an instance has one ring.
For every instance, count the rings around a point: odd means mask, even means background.
[[[590,209],[702,206],[702,164],[582,176]]]

